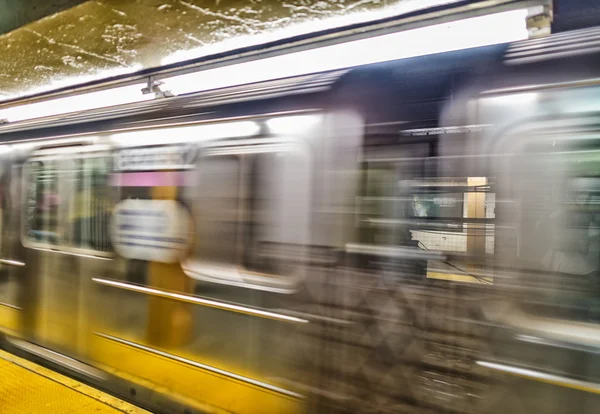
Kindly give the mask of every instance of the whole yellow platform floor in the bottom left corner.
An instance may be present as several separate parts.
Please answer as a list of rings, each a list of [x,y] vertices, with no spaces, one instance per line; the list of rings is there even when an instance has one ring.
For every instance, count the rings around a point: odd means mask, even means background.
[[[33,362],[0,351],[0,413],[148,413]]]

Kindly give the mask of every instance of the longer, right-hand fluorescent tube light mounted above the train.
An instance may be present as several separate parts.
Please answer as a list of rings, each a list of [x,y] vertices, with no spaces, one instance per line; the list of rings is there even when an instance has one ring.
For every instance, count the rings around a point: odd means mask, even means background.
[[[163,79],[176,94],[528,38],[527,10],[474,17]]]

